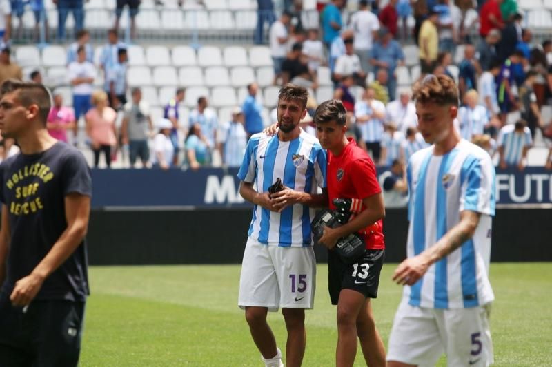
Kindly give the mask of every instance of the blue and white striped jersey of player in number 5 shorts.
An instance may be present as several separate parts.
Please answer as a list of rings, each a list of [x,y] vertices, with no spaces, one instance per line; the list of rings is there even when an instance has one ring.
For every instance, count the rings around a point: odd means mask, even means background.
[[[458,222],[464,210],[480,213],[472,238],[428,268],[413,286],[404,287],[412,306],[470,308],[494,299],[489,282],[491,216],[495,215],[495,168],[480,147],[460,140],[454,149],[435,156],[431,147],[417,151],[406,170],[408,258],[422,253]]]

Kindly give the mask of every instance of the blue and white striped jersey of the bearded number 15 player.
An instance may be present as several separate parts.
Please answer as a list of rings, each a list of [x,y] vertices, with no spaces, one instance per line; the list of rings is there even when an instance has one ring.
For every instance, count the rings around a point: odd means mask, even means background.
[[[254,182],[257,192],[268,191],[281,178],[290,189],[317,193],[318,187],[326,187],[326,163],[326,150],[304,130],[299,138],[288,142],[280,141],[277,135],[259,133],[249,139],[237,176],[242,181]],[[314,215],[314,209],[302,204],[287,207],[282,213],[255,205],[248,235],[272,246],[312,246]]]

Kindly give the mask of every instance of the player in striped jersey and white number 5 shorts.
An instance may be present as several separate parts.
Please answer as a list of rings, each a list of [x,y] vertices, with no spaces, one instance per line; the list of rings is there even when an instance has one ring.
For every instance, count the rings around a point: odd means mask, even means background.
[[[460,138],[453,121],[458,89],[428,75],[413,87],[418,129],[433,144],[406,170],[407,258],[393,280],[404,285],[389,337],[388,366],[489,366],[491,222],[495,169],[480,147]]]

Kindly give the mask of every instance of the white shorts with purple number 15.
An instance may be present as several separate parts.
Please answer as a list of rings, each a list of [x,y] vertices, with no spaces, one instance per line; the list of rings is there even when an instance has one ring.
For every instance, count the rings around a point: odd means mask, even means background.
[[[248,238],[239,277],[240,308],[313,308],[315,288],[313,247],[268,246]]]

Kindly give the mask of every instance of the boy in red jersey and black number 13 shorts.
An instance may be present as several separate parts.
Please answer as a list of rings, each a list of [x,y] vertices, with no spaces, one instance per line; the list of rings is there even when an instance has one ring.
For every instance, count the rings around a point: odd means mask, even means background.
[[[366,363],[385,366],[385,347],[375,328],[370,298],[377,296],[384,261],[382,218],[385,216],[382,189],[375,165],[366,152],[346,138],[346,111],[330,100],[316,109],[314,121],[320,144],[328,151],[326,182],[330,209],[333,199],[361,199],[362,211],[342,227],[326,227],[319,243],[332,250],[339,238],[359,233],[366,253],[355,264],[345,264],[335,251],[328,253],[328,288],[337,304],[336,366],[353,366],[360,339]],[[369,362],[369,363],[368,363]]]

